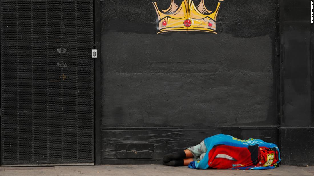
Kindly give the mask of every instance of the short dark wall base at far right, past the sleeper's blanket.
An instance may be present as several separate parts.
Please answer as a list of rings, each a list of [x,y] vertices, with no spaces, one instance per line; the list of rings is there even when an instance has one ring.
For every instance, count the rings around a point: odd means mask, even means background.
[[[281,163],[314,165],[314,128],[280,128]]]

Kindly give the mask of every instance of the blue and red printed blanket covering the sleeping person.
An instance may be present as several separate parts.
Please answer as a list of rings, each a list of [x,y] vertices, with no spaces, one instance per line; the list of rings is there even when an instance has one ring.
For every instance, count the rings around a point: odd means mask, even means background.
[[[277,145],[260,139],[241,140],[218,134],[204,140],[207,152],[189,168],[197,169],[273,169],[280,162]]]

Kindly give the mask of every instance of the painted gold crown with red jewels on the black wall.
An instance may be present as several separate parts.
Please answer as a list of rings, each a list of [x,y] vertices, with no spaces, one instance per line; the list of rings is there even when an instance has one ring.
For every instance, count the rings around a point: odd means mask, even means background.
[[[157,12],[157,33],[171,31],[203,31],[216,33],[216,18],[221,5],[218,4],[215,11],[208,10],[204,5],[204,0],[195,6],[192,0],[182,0],[181,5],[171,0],[171,5],[166,10],[161,10],[157,6],[157,1],[153,1]]]

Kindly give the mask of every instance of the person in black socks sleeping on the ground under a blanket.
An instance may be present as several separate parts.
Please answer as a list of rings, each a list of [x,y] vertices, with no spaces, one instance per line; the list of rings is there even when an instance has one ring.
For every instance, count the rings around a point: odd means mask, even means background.
[[[280,162],[277,145],[261,139],[241,140],[218,134],[200,144],[163,157],[166,166],[198,169],[273,169]]]

